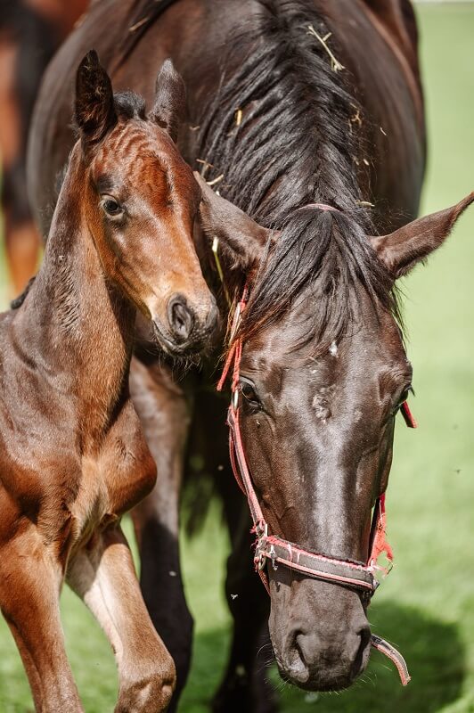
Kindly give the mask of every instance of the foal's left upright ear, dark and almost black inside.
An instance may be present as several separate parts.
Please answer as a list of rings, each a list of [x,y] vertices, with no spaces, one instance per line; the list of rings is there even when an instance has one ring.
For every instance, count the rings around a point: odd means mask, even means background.
[[[78,66],[75,116],[86,148],[101,141],[117,123],[110,78],[95,50]]]

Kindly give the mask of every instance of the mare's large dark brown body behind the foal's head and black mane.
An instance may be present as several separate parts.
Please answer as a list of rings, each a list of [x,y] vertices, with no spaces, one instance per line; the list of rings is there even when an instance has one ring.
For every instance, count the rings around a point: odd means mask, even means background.
[[[166,12],[160,11],[162,5]],[[180,132],[179,143],[185,158],[193,163],[202,158],[198,154],[203,148],[195,121],[201,118],[204,107],[217,91],[221,70],[229,61],[229,48],[232,46],[235,67],[249,52],[247,43],[249,34],[257,29],[252,23],[257,26],[259,5],[257,0],[244,0],[238,5],[212,0],[166,3],[128,0],[117,5],[114,0],[105,0],[86,14],[81,27],[57,53],[37,107],[29,151],[32,168],[29,193],[37,211],[40,210],[37,217],[41,225],[47,226],[51,219],[56,176],[73,138],[69,126],[72,57],[88,46],[99,47],[118,86],[122,89],[136,86],[136,91],[150,98],[154,68],[171,56],[183,73],[191,112],[188,125]],[[285,12],[285,3],[282,1],[280,5]],[[289,3],[286,5],[290,8]],[[306,3],[306,11],[308,24],[311,12],[316,19],[318,13],[328,15],[333,37],[337,32],[338,59],[346,75],[350,72],[355,101],[364,107],[363,118],[357,115],[355,105],[347,130],[352,129],[362,137],[366,147],[371,147],[370,160],[362,155],[354,159],[360,164],[361,175],[370,181],[372,194],[377,196],[377,225],[380,230],[402,225],[418,209],[425,151],[416,26],[411,5],[405,0],[388,4],[339,0],[331,12],[318,2]],[[104,35],[101,23],[105,18],[108,31]],[[242,33],[244,36],[248,33],[247,43],[235,39],[231,43],[230,38]],[[204,37],[206,41],[201,42]],[[296,59],[295,56],[289,61]],[[390,150],[394,143],[396,152]],[[364,158],[369,167],[364,165]],[[38,171],[38,165],[44,168]],[[49,215],[45,213],[46,206]]]

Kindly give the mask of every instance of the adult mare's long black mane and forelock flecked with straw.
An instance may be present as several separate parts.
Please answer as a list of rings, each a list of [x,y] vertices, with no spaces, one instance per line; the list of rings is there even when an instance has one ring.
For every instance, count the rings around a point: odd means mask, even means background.
[[[375,233],[372,219],[358,203],[367,200],[354,166],[356,157],[363,163],[354,121],[362,110],[347,70],[331,68],[315,37],[328,28],[314,3],[258,1],[260,12],[228,47],[220,89],[202,112],[198,155],[209,164],[208,180],[221,176],[225,198],[282,231],[253,284],[242,336],[309,292],[317,309],[308,339],[323,348],[347,332],[356,283],[399,318],[393,281],[366,238]],[[328,44],[337,56],[336,40]],[[302,209],[314,202],[340,212]]]

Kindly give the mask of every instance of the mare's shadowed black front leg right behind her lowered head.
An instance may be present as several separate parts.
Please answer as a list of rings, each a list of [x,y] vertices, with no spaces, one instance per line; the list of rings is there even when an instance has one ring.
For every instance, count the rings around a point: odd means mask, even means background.
[[[230,465],[229,433],[225,425],[227,406],[225,398],[210,391],[202,392],[196,404],[192,434],[223,499],[232,544],[225,595],[233,616],[233,641],[213,709],[216,713],[273,713],[274,692],[267,680],[267,663],[273,660],[267,631],[270,598],[254,570],[249,507]]]

